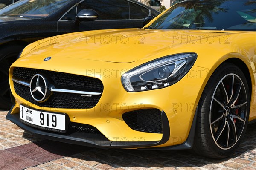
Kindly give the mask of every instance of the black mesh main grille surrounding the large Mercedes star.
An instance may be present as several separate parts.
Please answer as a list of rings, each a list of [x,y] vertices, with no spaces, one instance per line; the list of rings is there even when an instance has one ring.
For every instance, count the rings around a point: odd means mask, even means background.
[[[35,74],[44,74],[55,88],[80,90],[89,92],[103,92],[103,84],[97,78],[90,78],[81,75],[73,75],[62,72],[53,72],[41,69],[28,69],[15,67],[13,78],[30,82]],[[14,89],[17,95],[40,107],[52,107],[61,109],[90,109],[96,106],[102,95],[82,96],[75,93],[52,92],[47,101],[39,103],[32,98],[30,89],[14,82]]]

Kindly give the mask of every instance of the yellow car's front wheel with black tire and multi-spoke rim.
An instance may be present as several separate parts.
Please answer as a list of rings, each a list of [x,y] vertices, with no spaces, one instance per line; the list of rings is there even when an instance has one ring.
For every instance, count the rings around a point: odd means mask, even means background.
[[[198,104],[193,150],[209,158],[230,156],[244,136],[249,111],[250,91],[243,72],[232,63],[221,64]]]

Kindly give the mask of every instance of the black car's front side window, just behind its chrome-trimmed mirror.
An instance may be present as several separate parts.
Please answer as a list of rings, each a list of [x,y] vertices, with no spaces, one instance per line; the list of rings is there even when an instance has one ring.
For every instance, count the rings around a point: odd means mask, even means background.
[[[98,20],[129,19],[129,3],[126,0],[85,0],[78,5],[77,13],[82,9],[98,12]]]

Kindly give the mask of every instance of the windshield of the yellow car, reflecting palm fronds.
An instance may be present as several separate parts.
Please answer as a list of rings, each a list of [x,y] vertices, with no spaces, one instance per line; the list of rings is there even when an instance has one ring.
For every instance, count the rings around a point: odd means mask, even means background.
[[[191,0],[178,3],[148,29],[256,30],[256,1]]]

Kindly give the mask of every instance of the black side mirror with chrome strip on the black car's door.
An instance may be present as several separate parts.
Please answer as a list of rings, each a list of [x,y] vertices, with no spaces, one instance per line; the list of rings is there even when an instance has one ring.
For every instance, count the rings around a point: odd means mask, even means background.
[[[76,15],[76,20],[79,21],[94,21],[97,20],[99,14],[93,9],[83,9]]]

